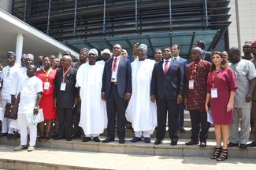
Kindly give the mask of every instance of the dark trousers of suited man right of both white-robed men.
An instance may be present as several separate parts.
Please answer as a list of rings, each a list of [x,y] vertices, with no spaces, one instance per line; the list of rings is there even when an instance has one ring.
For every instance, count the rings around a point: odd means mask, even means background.
[[[165,125],[168,111],[168,127],[170,139],[179,139],[179,105],[175,99],[158,99],[158,130],[157,139],[165,138]]]

